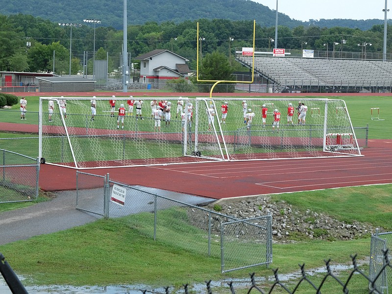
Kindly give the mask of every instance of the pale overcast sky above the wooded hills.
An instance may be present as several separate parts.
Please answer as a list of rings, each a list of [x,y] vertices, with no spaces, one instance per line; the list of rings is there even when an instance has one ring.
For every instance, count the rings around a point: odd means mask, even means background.
[[[276,9],[276,0],[252,0]],[[385,0],[278,0],[278,12],[298,21],[310,19],[384,20]],[[388,2],[392,18],[392,0]]]

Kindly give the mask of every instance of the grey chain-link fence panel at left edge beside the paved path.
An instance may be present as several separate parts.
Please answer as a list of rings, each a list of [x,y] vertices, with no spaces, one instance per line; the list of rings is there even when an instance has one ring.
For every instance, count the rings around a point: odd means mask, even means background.
[[[38,197],[39,161],[0,149],[0,203],[32,201]]]

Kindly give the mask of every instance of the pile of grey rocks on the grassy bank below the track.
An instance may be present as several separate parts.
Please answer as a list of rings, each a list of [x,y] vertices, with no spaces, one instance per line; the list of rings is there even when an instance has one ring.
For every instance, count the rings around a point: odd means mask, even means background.
[[[285,201],[271,202],[270,197],[259,196],[227,204],[209,204],[209,210],[238,219],[248,219],[272,215],[272,239],[277,243],[288,243],[306,239],[323,239],[329,241],[352,240],[369,237],[375,228],[367,223],[357,221],[339,221],[326,214],[311,210],[293,209]],[[230,221],[213,218],[212,227],[218,228],[217,222]],[[215,222],[215,223],[214,223]],[[238,234],[246,234],[242,228]],[[381,230],[380,230],[381,231]]]

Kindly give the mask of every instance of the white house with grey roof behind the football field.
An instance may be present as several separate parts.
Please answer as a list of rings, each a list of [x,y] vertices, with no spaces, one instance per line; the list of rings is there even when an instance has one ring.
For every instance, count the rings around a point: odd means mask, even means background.
[[[166,49],[156,49],[142,54],[140,60],[140,77],[143,83],[153,88],[163,88],[167,80],[180,77],[188,78],[191,72],[186,64],[188,59]]]

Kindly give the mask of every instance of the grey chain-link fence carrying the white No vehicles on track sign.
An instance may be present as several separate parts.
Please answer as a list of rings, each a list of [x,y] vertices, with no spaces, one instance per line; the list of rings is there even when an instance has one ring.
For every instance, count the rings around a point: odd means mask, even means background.
[[[271,215],[239,220],[194,204],[113,181],[77,174],[76,209],[116,218],[140,234],[221,259],[221,272],[272,262]]]

